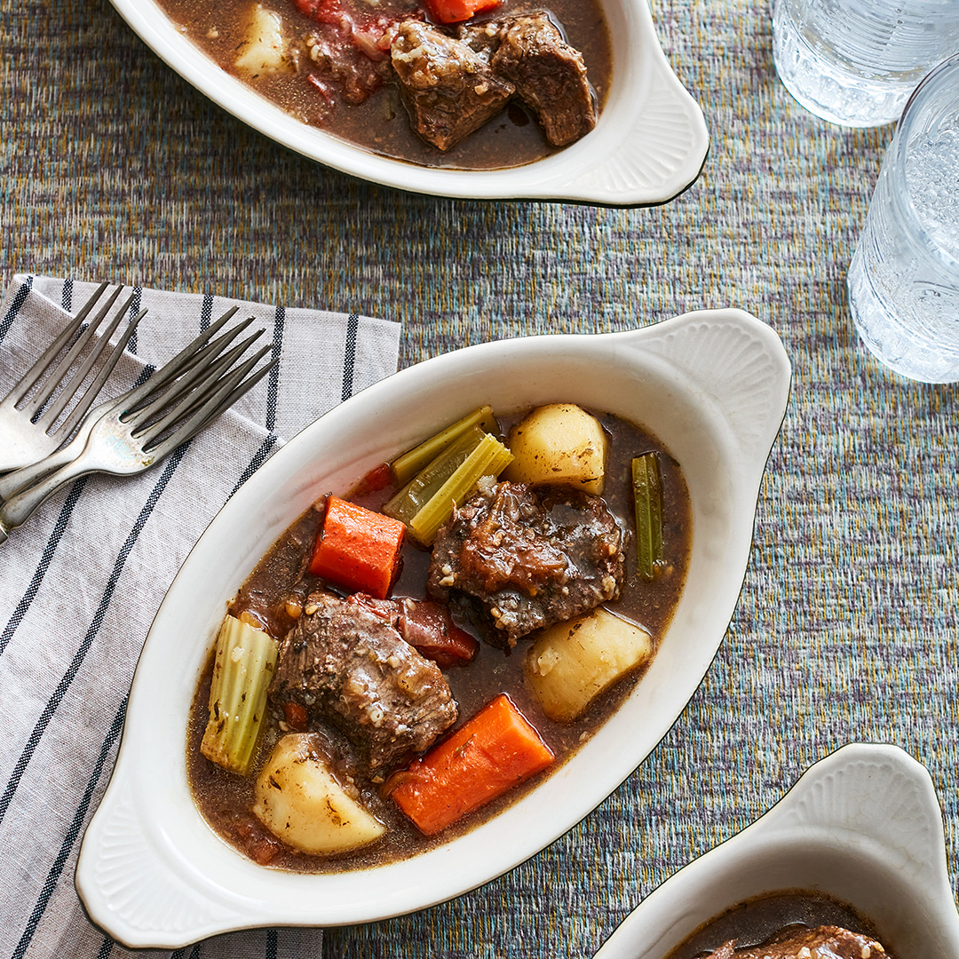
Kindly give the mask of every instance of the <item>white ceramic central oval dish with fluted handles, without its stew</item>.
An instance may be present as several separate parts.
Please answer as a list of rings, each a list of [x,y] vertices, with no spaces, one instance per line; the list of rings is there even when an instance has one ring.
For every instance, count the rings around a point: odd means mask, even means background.
[[[266,924],[353,924],[424,908],[501,875],[612,792],[683,711],[737,603],[763,469],[790,368],[780,339],[737,310],[594,336],[471,346],[371,386],[293,437],[200,537],[137,666],[113,778],[86,832],[77,887],[129,946],[180,947]],[[618,713],[523,800],[446,845],[376,869],[304,876],[227,846],[190,797],[186,717],[225,609],[274,540],[323,493],[483,403],[564,400],[643,423],[682,464],[693,539],[683,596]]]

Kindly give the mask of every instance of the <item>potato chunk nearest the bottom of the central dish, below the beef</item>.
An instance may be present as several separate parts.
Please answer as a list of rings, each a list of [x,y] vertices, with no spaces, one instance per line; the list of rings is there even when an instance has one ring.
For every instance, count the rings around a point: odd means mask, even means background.
[[[341,853],[386,832],[343,791],[309,733],[277,742],[257,777],[255,796],[253,812],[260,822],[303,853]]]

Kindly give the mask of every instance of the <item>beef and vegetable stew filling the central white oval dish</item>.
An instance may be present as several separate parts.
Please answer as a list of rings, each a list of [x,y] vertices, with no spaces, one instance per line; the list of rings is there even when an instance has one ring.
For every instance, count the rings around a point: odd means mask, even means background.
[[[614,713],[683,590],[655,436],[478,409],[329,494],[229,605],[187,732],[195,801],[255,861],[361,868],[472,829]]]

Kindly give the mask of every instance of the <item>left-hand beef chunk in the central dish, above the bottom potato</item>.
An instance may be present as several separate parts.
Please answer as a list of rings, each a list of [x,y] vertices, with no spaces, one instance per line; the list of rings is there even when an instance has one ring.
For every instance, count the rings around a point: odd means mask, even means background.
[[[390,619],[325,592],[308,596],[284,639],[269,698],[337,725],[369,774],[429,748],[457,713],[442,672]]]

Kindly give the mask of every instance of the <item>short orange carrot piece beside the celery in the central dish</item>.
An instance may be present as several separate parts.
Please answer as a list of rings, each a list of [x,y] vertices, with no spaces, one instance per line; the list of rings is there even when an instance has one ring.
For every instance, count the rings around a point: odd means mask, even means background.
[[[399,520],[331,496],[310,572],[343,589],[386,599],[399,569],[405,530]]]

